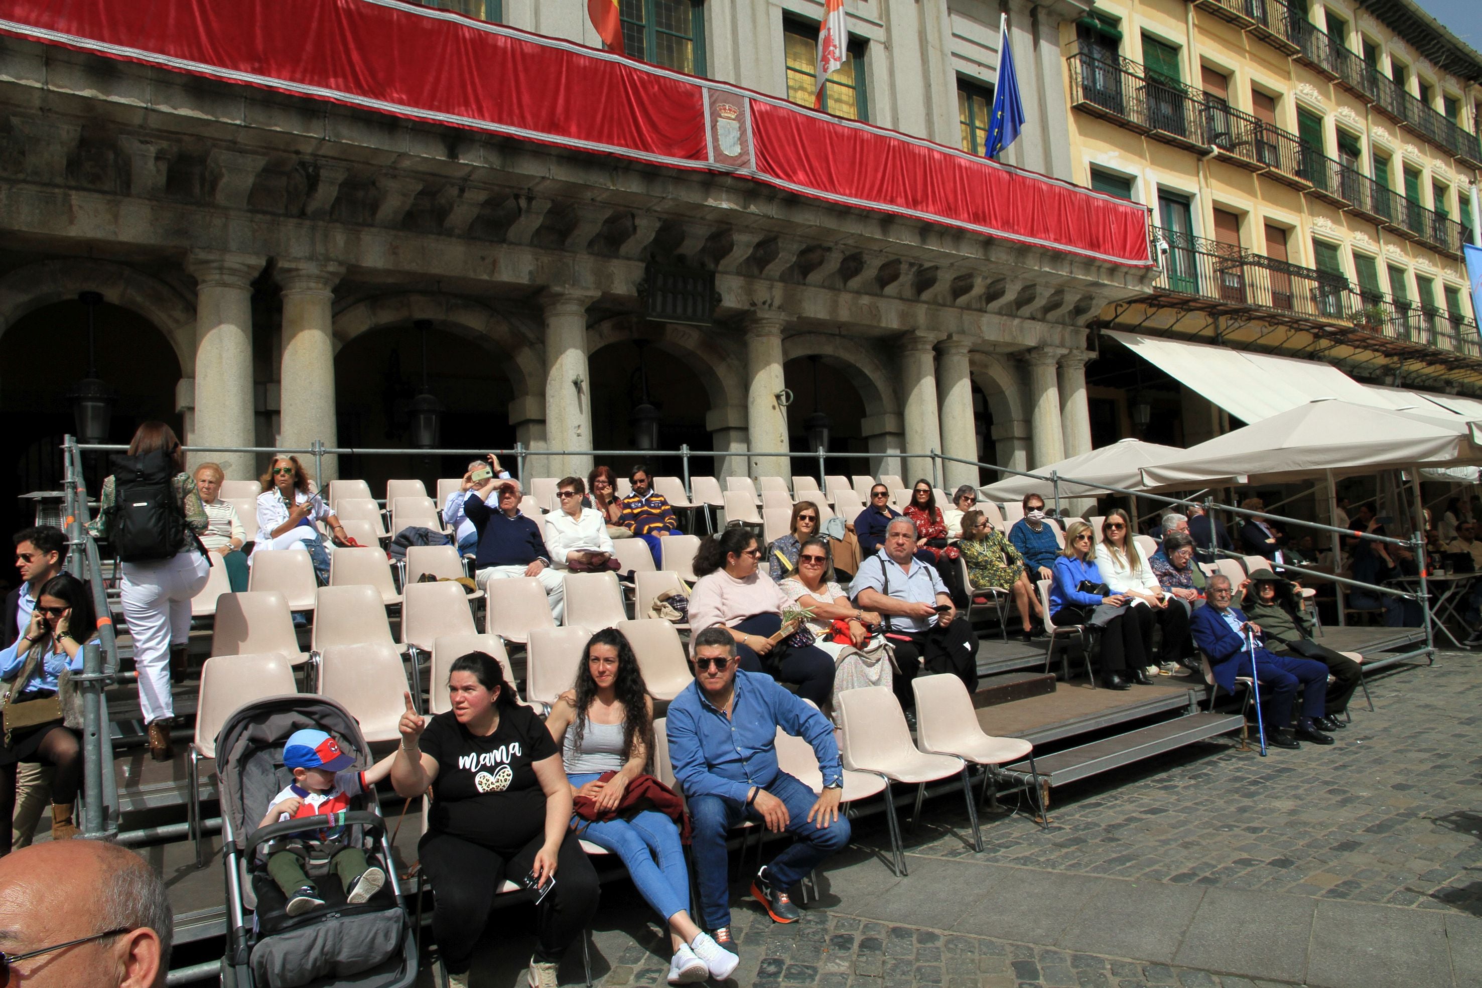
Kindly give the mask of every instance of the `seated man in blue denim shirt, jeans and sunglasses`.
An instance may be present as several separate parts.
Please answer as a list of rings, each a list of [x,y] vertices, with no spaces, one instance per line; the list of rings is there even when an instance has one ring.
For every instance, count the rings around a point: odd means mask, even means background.
[[[823,795],[777,767],[777,729],[803,738],[818,755]],[[849,843],[839,816],[843,766],[833,724],[763,672],[737,670],[735,640],[720,625],[695,638],[695,681],[668,705],[668,754],[694,824],[700,917],[734,951],[726,831],[742,819],[790,831],[793,846],[751,880],[751,895],[778,923],[802,912],[787,890]]]

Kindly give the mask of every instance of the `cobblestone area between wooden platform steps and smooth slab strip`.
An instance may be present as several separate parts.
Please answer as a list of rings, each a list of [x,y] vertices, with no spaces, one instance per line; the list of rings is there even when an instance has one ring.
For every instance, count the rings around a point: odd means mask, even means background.
[[[1049,832],[996,824],[1000,865],[1482,915],[1482,656],[1381,674],[1331,748],[1209,742],[1057,792]],[[1254,733],[1254,732],[1252,732]],[[1254,744],[1254,742],[1252,742]],[[1069,797],[1069,798],[1067,798]],[[941,815],[937,822],[962,825]],[[916,853],[957,858],[950,834]]]

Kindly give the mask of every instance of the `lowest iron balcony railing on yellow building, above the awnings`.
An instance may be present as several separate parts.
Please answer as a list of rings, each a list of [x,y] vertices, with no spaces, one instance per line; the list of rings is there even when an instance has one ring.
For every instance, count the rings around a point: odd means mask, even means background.
[[[1298,318],[1350,323],[1406,342],[1482,357],[1476,320],[1355,286],[1341,274],[1303,268],[1242,247],[1153,227],[1157,287]]]

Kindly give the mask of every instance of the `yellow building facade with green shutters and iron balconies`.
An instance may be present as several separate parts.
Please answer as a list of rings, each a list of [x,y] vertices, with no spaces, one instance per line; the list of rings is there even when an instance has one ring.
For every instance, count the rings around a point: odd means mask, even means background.
[[[1482,56],[1412,0],[1095,0],[1061,49],[1074,181],[1147,204],[1162,258],[1103,329],[1482,390],[1461,256]],[[1168,438],[1223,425],[1181,410]]]

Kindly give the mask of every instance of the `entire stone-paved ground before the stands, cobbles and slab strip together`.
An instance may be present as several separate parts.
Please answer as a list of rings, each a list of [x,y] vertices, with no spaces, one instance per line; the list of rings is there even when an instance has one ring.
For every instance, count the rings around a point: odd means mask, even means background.
[[[1331,748],[1260,758],[1220,741],[1171,752],[1057,790],[1048,832],[1021,815],[986,815],[981,853],[966,843],[960,797],[931,800],[906,834],[911,877],[898,884],[870,856],[889,846],[883,821],[860,819],[855,849],[825,865],[823,898],[800,923],[778,926],[735,902],[734,984],[1482,984],[1479,662],[1442,653],[1435,667],[1377,677],[1375,712],[1355,704]],[[1036,898],[1039,915],[1020,917],[1018,904]],[[476,988],[523,985],[525,912],[488,938]],[[667,938],[627,881],[603,886],[594,944],[597,984],[664,984]],[[1184,966],[1147,960],[1175,954]],[[1279,979],[1220,973],[1232,970]],[[574,952],[562,979],[579,978]]]

